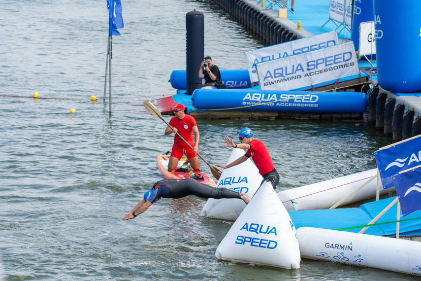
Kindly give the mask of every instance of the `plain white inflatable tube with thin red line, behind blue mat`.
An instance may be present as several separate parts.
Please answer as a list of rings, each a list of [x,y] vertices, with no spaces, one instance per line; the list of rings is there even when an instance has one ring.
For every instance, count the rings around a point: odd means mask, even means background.
[[[297,188],[291,188],[278,193],[278,197],[288,211],[329,209],[352,191],[376,175],[377,169],[372,169],[353,175],[333,178]],[[362,189],[349,197],[340,206],[376,196],[377,179],[372,180]],[[393,188],[383,189],[380,182],[380,194],[393,192]],[[292,200],[292,202],[291,202]]]

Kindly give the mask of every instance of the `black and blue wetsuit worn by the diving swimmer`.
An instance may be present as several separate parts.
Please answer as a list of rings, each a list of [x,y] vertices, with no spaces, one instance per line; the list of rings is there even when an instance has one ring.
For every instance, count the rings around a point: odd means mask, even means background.
[[[208,184],[200,183],[194,178],[163,179],[155,183],[149,202],[154,203],[158,197],[182,198],[196,195],[204,198],[236,198],[242,199],[240,193],[227,188],[215,188]]]

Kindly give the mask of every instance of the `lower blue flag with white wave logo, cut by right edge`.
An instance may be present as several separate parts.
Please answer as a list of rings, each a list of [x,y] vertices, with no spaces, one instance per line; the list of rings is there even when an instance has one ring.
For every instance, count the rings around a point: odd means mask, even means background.
[[[392,177],[402,215],[421,209],[421,166]]]

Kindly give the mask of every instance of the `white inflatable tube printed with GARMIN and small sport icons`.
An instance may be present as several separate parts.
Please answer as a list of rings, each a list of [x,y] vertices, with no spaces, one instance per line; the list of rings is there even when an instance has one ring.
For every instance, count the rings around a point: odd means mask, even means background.
[[[421,243],[313,227],[297,229],[301,257],[421,276]]]

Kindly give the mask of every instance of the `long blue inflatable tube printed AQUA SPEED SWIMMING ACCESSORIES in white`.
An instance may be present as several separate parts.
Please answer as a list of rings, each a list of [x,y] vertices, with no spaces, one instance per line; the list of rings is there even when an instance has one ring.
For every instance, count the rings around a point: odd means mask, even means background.
[[[368,103],[367,95],[360,92],[245,89],[196,89],[193,92],[192,100],[193,106],[200,109],[319,113],[362,113],[367,108]]]

